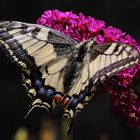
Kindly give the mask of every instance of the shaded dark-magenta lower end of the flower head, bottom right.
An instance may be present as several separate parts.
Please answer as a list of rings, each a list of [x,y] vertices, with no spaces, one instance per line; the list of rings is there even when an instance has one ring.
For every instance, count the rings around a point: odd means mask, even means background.
[[[111,109],[133,127],[140,126],[140,101],[131,91],[114,91],[111,93]]]

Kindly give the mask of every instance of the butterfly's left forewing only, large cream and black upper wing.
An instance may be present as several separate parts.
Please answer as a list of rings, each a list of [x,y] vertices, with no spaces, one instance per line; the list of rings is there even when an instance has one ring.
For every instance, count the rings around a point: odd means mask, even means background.
[[[51,28],[14,21],[0,23],[0,40],[1,48],[13,62],[26,69],[45,65],[58,56],[69,54],[70,46],[76,44]]]

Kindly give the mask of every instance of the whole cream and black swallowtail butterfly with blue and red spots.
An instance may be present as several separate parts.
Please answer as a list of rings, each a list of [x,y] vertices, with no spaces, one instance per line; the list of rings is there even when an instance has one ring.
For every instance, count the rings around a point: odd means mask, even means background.
[[[23,75],[35,107],[48,112],[64,108],[73,118],[91,100],[98,81],[139,63],[138,51],[123,43],[78,43],[46,26],[17,21],[0,22],[0,49]]]

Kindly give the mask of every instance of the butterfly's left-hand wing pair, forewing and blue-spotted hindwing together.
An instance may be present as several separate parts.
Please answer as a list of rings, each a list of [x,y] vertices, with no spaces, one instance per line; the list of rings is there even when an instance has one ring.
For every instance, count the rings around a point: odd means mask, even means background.
[[[23,72],[33,107],[51,108],[46,98],[64,92],[65,67],[76,53],[76,41],[36,24],[0,22],[0,48]],[[54,95],[53,95],[54,96]],[[45,98],[45,100],[43,100]],[[49,99],[48,99],[49,100]]]

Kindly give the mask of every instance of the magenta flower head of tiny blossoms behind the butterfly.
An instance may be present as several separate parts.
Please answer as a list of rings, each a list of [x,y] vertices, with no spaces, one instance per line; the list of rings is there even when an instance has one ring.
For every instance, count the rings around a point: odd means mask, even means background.
[[[104,21],[96,20],[91,16],[86,17],[82,13],[76,15],[73,12],[47,10],[37,23],[59,30],[78,42],[90,38],[96,38],[97,44],[122,42],[135,47],[140,52],[140,45],[130,35],[112,26],[106,26]],[[122,88],[109,90],[112,110],[134,127],[140,126],[140,100],[131,89],[140,80],[139,69],[140,64],[118,73],[117,83]]]

